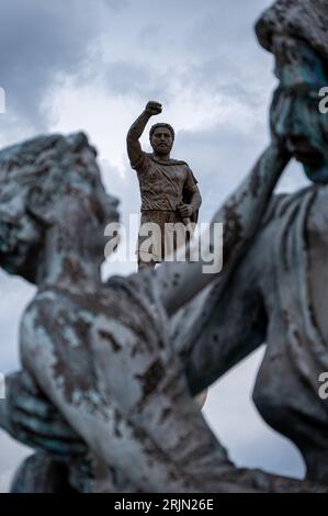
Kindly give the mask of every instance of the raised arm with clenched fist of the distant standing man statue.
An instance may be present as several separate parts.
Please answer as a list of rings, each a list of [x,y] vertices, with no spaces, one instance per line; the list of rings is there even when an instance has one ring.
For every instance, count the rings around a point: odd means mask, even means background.
[[[149,101],[137,120],[132,124],[126,136],[127,155],[132,166],[134,166],[142,157],[143,149],[139,138],[151,116],[161,113],[161,104],[159,102]]]

